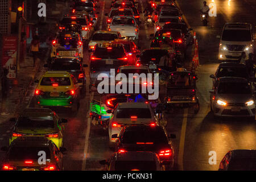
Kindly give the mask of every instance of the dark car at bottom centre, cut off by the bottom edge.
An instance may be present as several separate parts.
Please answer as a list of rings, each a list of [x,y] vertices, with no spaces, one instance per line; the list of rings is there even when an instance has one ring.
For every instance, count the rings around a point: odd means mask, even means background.
[[[120,151],[110,156],[109,160],[101,160],[108,171],[164,171],[162,163],[154,152]]]

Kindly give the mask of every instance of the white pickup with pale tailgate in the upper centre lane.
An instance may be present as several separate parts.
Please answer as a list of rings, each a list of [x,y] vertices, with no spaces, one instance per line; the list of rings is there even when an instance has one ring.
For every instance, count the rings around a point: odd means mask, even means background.
[[[109,31],[118,31],[127,40],[139,38],[139,26],[132,16],[114,16]]]

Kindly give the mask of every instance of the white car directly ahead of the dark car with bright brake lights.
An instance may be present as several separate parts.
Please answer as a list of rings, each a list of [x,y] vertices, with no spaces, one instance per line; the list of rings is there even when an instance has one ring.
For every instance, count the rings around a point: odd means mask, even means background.
[[[156,125],[154,110],[145,102],[119,103],[113,111],[113,117],[109,121],[109,146],[114,147],[115,139],[112,135],[121,132],[125,125]]]

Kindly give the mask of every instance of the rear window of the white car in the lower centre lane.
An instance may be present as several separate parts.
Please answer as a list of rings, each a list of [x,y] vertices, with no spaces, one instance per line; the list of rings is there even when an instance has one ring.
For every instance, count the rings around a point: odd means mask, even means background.
[[[138,119],[151,118],[151,112],[148,108],[121,108],[117,109],[117,118],[131,118],[136,116]]]

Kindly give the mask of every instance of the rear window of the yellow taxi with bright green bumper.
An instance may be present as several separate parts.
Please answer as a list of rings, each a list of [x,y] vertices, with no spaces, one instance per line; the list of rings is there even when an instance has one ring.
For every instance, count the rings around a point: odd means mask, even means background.
[[[52,86],[52,84],[57,84],[59,86],[69,86],[71,81],[69,77],[43,77],[40,85]]]

